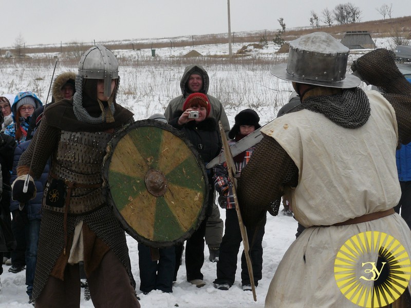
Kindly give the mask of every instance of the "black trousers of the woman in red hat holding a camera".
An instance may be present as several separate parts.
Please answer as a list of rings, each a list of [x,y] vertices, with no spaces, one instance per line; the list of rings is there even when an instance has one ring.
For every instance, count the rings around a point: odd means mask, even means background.
[[[204,264],[204,236],[206,235],[207,219],[204,219],[193,235],[185,242],[185,270],[187,281],[203,279],[201,267]],[[176,267],[174,279],[177,280],[177,272],[180,268],[180,260],[183,252],[183,245],[178,245],[176,249]]]

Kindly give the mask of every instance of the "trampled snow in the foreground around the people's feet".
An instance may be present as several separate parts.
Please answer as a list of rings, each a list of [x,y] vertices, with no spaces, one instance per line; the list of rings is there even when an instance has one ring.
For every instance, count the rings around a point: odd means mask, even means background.
[[[221,218],[225,220],[225,210],[221,209]],[[264,301],[268,286],[274,275],[279,261],[282,259],[288,246],[295,239],[297,222],[292,217],[284,216],[281,213],[276,216],[268,216],[266,224],[266,234],[263,240],[263,279],[256,287],[257,301],[254,301],[252,293],[242,291],[240,278],[240,262],[237,262],[237,273],[235,284],[229,291],[220,291],[213,287],[213,280],[216,278],[216,264],[208,260],[209,252],[206,246],[204,251],[204,265],[202,273],[207,285],[197,288],[186,281],[184,257],[180,266],[177,281],[173,286],[173,293],[167,294],[161,291],[152,291],[144,295],[139,294],[140,304],[143,308],[226,308],[226,307],[264,307]],[[139,287],[138,249],[137,241],[127,236],[129,255],[132,262],[133,275]],[[240,251],[241,253],[241,251]],[[238,261],[240,260],[240,253]],[[1,308],[23,308],[32,307],[28,302],[25,284],[25,271],[12,274],[8,272],[10,266],[3,265],[4,273],[0,276],[3,288],[0,291]],[[238,269],[239,268],[239,269]],[[93,307],[91,300],[85,301],[81,298],[81,307]]]

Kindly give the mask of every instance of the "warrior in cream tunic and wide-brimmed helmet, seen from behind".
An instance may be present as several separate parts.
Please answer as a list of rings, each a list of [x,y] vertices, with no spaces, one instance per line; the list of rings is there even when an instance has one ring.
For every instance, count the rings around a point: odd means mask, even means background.
[[[351,66],[360,78],[346,74],[348,53],[311,33],[271,70],[302,103],[261,128],[238,201],[251,228],[285,195],[305,230],[279,263],[266,307],[409,304],[411,232],[393,208],[396,148],[411,141],[411,84],[386,49]],[[361,79],[381,92],[362,90]]]

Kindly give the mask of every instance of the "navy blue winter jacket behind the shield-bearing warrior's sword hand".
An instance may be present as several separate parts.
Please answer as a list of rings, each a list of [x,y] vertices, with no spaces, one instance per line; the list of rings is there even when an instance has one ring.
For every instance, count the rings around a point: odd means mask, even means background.
[[[14,150],[13,170],[11,174],[10,183],[13,183],[13,181],[17,178],[16,169],[17,169],[18,160],[20,159],[20,156],[22,155],[22,153],[28,148],[30,141],[31,140],[25,141],[19,144]],[[26,211],[27,217],[29,220],[42,218],[41,209],[42,209],[42,200],[43,200],[43,190],[44,190],[44,185],[46,184],[46,181],[47,181],[48,171],[49,171],[49,164],[47,163],[40,179],[34,180],[35,188],[37,189],[36,195],[34,199],[28,201],[24,206],[25,207],[24,210]],[[11,200],[10,201],[10,211],[18,209],[19,205],[20,203],[18,201]]]

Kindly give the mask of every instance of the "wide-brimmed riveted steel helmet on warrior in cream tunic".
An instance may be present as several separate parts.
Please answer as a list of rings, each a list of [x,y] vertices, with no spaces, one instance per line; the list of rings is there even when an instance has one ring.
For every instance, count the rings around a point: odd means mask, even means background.
[[[290,42],[288,63],[278,64],[271,73],[296,83],[334,88],[353,88],[361,80],[346,75],[349,49],[325,32],[303,35]]]

